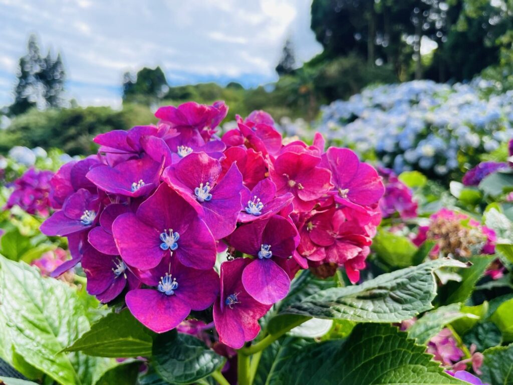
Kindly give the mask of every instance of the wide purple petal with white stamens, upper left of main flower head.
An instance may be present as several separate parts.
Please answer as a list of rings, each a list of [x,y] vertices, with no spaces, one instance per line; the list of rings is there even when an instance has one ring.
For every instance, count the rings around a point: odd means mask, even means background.
[[[162,162],[151,158],[133,159],[114,167],[94,167],[86,177],[106,192],[136,198],[149,194],[159,185],[163,168]]]

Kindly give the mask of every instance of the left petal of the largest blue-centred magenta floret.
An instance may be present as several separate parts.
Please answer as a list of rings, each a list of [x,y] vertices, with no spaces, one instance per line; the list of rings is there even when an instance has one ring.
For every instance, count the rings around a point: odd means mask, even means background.
[[[130,266],[149,269],[157,266],[169,251],[160,248],[160,232],[126,213],[112,224],[112,233],[123,260]]]

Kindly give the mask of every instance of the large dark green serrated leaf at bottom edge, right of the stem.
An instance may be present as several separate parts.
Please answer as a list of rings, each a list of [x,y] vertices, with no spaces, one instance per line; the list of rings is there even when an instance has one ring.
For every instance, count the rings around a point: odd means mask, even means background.
[[[425,347],[386,324],[358,324],[346,340],[311,343],[278,369],[273,384],[461,384]]]

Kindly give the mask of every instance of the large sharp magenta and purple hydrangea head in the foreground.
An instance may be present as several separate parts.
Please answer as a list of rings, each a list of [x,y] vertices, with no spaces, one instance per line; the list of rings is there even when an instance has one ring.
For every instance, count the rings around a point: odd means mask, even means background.
[[[300,268],[334,263],[356,282],[381,219],[384,186],[349,149],[284,144],[254,111],[222,138],[227,107],[161,107],[156,126],[98,135],[98,154],[52,178],[56,211],[41,226],[66,236],[87,291],[124,296],[162,333],[213,304],[221,342],[241,348]],[[214,269],[218,253],[229,258]]]

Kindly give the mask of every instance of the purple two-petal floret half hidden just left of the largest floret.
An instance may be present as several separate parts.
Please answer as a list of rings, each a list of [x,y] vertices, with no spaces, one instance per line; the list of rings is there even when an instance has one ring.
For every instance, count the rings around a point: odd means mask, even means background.
[[[89,243],[100,253],[107,255],[119,255],[114,236],[112,235],[112,223],[122,214],[128,213],[130,208],[126,204],[109,204],[102,211],[100,226],[96,226],[88,234]]]

